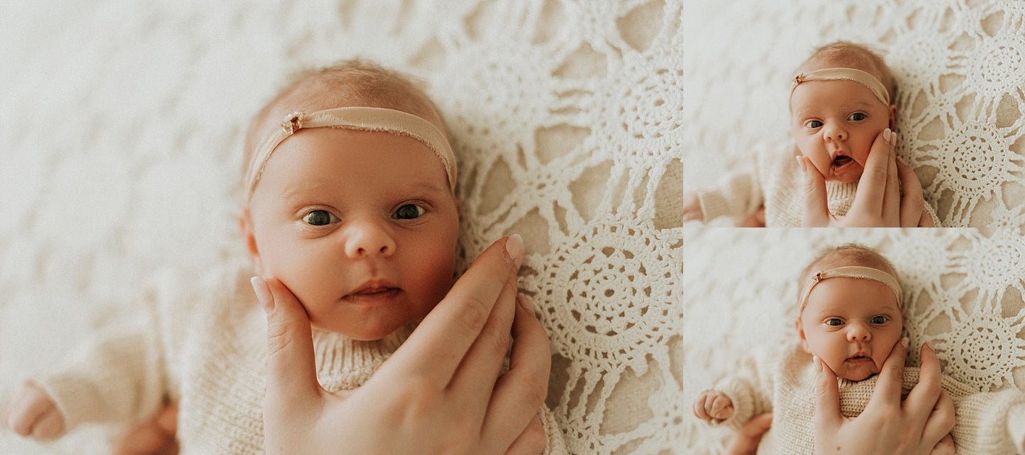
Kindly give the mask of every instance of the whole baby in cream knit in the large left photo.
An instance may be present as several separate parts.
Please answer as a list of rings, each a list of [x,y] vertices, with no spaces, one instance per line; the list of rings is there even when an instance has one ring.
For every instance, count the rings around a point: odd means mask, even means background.
[[[321,385],[363,384],[452,285],[459,203],[445,131],[401,74],[363,60],[299,74],[246,140],[251,268],[230,271],[235,286],[220,295],[161,298],[146,327],[27,381],[5,423],[43,440],[82,422],[136,422],[170,400],[183,452],[262,453],[266,318],[252,270],[302,302]],[[564,453],[550,411],[539,417],[545,453]]]

